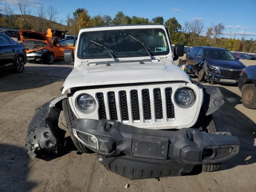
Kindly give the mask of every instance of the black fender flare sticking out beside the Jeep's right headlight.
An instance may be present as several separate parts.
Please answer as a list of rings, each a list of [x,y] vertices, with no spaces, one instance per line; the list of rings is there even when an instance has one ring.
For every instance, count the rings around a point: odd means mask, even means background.
[[[206,115],[212,114],[225,103],[224,96],[218,87],[203,87],[203,91],[204,102],[202,105],[202,110]]]

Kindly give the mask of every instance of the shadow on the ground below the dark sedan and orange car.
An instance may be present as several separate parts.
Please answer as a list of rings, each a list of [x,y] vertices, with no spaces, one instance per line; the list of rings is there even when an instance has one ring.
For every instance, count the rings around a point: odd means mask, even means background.
[[[0,72],[0,92],[33,89],[64,81],[71,71],[71,65],[61,62],[52,65],[29,63],[20,74],[11,69],[4,70]]]

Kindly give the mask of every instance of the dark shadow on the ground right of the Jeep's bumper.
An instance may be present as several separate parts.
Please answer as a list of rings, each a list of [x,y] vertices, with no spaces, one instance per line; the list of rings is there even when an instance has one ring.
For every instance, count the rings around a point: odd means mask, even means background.
[[[214,86],[214,85],[213,85]],[[253,164],[256,162],[256,124],[236,109],[241,97],[220,87],[224,95],[225,104],[213,113],[218,131],[231,132],[240,141],[239,153],[232,159],[224,162],[222,170],[230,169],[238,165]],[[252,110],[256,113],[256,110]]]

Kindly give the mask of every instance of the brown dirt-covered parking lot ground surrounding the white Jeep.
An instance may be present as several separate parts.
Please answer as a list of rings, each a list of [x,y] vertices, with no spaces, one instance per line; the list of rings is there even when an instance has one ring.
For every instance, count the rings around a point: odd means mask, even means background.
[[[232,85],[213,85],[225,96],[224,106],[214,112],[218,130],[240,139],[239,154],[218,172],[128,180],[106,170],[95,154],[77,154],[68,135],[63,154],[31,160],[24,146],[30,119],[36,108],[61,95],[71,70],[59,61],[50,66],[28,63],[22,74],[0,72],[0,192],[256,191],[256,110],[241,104],[241,93]],[[66,129],[62,115],[60,120],[60,127]],[[127,189],[126,184],[130,184]]]

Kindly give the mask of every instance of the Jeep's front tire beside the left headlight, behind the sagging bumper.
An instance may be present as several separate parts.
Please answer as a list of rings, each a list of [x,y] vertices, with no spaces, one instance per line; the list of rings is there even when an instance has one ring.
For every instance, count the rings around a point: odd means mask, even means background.
[[[81,153],[88,153],[91,152],[88,148],[86,148],[80,141],[76,139],[76,137],[73,134],[72,131],[72,122],[76,118],[74,113],[72,112],[72,109],[69,105],[68,99],[62,100],[62,107],[63,107],[63,112],[64,112],[64,117],[66,119],[66,125],[68,128],[68,131],[70,132],[70,137],[72,141],[74,142],[74,145],[80,151]]]

